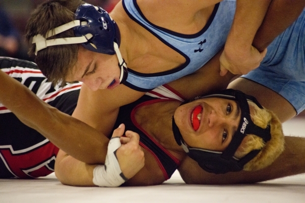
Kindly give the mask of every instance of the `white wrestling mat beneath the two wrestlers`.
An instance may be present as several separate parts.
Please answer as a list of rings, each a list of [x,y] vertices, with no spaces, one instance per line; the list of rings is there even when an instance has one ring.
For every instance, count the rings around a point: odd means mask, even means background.
[[[305,137],[305,117],[284,123],[285,134]],[[257,184],[186,185],[178,172],[162,185],[147,187],[72,187],[51,174],[36,180],[0,179],[0,202],[305,202],[305,174]]]

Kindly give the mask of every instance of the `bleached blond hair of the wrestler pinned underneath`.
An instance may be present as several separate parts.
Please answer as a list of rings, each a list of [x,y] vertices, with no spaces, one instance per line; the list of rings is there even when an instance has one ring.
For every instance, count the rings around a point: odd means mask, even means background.
[[[254,114],[251,114],[253,122],[266,128],[270,124],[271,140],[265,143],[262,138],[254,134],[247,134],[235,153],[235,157],[241,158],[255,149],[261,151],[243,167],[244,171],[257,171],[270,165],[284,151],[284,133],[279,118],[267,109],[260,109],[253,102],[248,101],[249,106],[254,107]]]

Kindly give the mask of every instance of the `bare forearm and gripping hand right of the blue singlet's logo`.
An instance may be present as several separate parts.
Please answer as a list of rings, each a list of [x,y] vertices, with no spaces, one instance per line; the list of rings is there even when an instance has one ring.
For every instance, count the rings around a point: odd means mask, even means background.
[[[233,74],[246,74],[259,66],[266,55],[252,46],[271,0],[237,0],[236,11],[225,50],[220,56],[220,75],[228,70]]]

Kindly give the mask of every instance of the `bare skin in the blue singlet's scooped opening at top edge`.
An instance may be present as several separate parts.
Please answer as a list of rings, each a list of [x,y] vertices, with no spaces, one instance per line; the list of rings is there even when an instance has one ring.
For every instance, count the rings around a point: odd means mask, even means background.
[[[220,1],[140,0],[137,4],[153,24],[179,33],[192,34],[202,29],[214,5]]]

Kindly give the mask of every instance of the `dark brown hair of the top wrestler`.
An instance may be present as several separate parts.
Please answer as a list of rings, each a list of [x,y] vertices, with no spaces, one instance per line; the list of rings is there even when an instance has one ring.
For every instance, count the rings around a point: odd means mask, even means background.
[[[32,56],[35,53],[36,45],[32,44],[35,35],[40,34],[45,37],[49,30],[73,21],[77,7],[84,3],[81,0],[52,0],[39,5],[31,13],[26,24],[26,41],[31,44],[29,55]],[[74,37],[72,29],[48,39],[68,37]],[[78,46],[72,44],[47,47],[37,53],[35,62],[50,82],[63,84],[71,67],[77,61]]]

